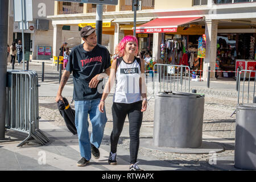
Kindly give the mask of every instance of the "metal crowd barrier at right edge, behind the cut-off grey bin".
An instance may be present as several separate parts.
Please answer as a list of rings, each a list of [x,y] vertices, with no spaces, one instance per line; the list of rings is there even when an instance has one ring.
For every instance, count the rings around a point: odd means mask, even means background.
[[[243,75],[243,88],[242,88],[242,105],[243,105],[243,101],[244,101],[244,96],[246,95],[245,94],[245,81],[246,81],[246,77],[248,78],[248,88],[247,88],[247,103],[249,103],[249,98],[250,98],[250,95],[253,96],[253,99],[252,101],[254,100],[255,98],[255,84],[256,84],[256,71],[251,71],[251,70],[241,70],[239,72],[239,78],[238,78],[238,104],[241,104],[240,103],[240,90],[241,90],[241,75]],[[251,81],[251,77],[254,76],[254,87],[253,87],[253,92],[250,93],[250,81]]]

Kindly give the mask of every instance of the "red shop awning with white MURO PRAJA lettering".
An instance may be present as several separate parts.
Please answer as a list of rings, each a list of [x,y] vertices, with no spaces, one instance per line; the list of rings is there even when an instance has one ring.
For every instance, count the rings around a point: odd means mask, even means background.
[[[203,17],[188,17],[188,18],[156,18],[136,27],[137,34],[148,33],[164,33],[176,32],[177,27],[181,24],[186,24]]]

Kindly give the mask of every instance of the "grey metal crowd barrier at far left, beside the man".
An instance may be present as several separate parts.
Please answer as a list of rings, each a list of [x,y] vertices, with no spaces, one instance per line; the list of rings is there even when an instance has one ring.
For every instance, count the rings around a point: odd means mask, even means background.
[[[39,86],[35,71],[7,70],[5,126],[28,134],[17,147],[28,143],[31,138],[42,145],[49,142],[39,130]]]

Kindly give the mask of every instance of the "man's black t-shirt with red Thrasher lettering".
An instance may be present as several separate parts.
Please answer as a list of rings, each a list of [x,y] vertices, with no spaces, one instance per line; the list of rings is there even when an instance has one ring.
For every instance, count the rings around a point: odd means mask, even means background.
[[[67,67],[70,73],[73,72],[73,100],[93,100],[101,98],[96,88],[89,88],[92,78],[110,67],[110,55],[108,49],[97,44],[92,51],[85,51],[83,44],[72,49]],[[100,83],[100,82],[99,82]]]

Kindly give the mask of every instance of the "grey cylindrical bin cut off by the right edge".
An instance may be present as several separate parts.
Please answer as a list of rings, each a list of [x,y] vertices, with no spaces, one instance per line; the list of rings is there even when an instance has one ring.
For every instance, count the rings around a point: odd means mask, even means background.
[[[234,166],[256,170],[256,104],[237,105]]]

